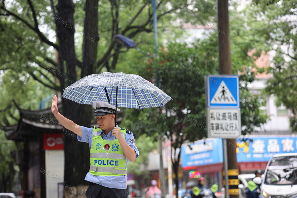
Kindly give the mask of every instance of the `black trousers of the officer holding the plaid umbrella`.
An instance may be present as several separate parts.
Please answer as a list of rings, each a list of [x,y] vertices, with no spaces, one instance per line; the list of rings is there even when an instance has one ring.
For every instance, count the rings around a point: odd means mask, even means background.
[[[127,198],[129,193],[126,189],[113,189],[90,182],[86,191],[87,198]]]

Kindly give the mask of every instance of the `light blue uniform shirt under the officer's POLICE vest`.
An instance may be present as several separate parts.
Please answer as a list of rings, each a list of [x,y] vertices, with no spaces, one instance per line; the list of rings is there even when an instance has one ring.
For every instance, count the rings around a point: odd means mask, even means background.
[[[119,128],[119,126],[117,125]],[[92,142],[93,142],[93,129],[94,128],[87,128],[84,126],[81,126],[82,129],[82,137],[79,135],[77,136],[78,141],[80,142],[87,142],[89,143],[89,148],[91,150]],[[120,129],[120,128],[119,128]],[[103,130],[101,131],[101,136],[103,140],[115,140],[115,136],[112,135],[112,132],[110,131],[107,136],[103,133]],[[128,134],[126,133],[125,137],[126,142],[129,146],[131,146],[134,151],[136,152],[136,158],[139,155],[139,151],[135,145],[135,139],[132,133]],[[127,165],[128,166],[129,159],[127,159]],[[127,189],[127,175],[121,175],[121,176],[97,176],[97,175],[91,175],[90,172],[87,173],[85,177],[86,181],[97,183],[99,185],[114,188],[114,189]]]

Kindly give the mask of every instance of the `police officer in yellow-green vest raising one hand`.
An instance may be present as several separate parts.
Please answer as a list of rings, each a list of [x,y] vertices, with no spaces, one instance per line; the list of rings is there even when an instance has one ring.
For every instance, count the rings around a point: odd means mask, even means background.
[[[57,102],[57,96],[54,96],[52,113],[56,119],[66,129],[77,134],[78,141],[89,143],[91,166],[85,180],[90,185],[86,196],[127,197],[127,165],[138,157],[139,152],[132,131],[117,125],[115,127],[116,107],[103,101],[93,102],[99,128],[87,128],[61,115]]]

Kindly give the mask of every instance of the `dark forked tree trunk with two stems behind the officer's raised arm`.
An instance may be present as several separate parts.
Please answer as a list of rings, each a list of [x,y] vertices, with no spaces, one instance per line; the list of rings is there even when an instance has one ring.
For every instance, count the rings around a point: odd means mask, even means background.
[[[76,57],[74,48],[74,4],[71,0],[59,0],[57,8],[57,37],[60,44],[59,66],[61,73],[59,76],[62,89],[69,86],[71,82],[77,80]],[[83,38],[83,63],[81,77],[94,73],[94,64],[97,56],[98,35],[98,0],[86,1],[86,18],[84,23]],[[66,66],[66,69],[64,69]],[[73,80],[73,81],[72,81]],[[89,127],[93,111],[90,105],[83,105],[62,98],[63,114],[81,126]],[[74,137],[64,133],[64,195],[65,197],[84,196],[87,182],[84,181],[86,173],[89,171],[89,146],[77,141]]]

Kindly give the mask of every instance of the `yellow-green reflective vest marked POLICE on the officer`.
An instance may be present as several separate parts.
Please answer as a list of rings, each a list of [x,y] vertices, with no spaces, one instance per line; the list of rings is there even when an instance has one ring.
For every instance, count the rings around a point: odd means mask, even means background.
[[[125,139],[126,129],[121,130]],[[116,140],[103,140],[101,129],[93,129],[93,142],[90,150],[90,174],[99,176],[127,175],[127,159]]]

